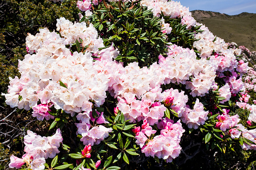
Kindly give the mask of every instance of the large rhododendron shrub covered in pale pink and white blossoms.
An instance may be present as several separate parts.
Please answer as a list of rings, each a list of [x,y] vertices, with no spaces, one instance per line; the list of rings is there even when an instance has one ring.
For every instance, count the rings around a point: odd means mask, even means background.
[[[10,78],[3,95],[58,129],[43,137],[28,130],[26,154],[12,156],[10,167],[137,168],[149,158],[180,164],[195,141],[209,151],[255,149],[255,127],[231,114],[236,101],[249,98],[247,63],[188,8],[147,0],[77,7],[79,22],[60,18],[56,32],[44,28],[26,38],[21,77]]]

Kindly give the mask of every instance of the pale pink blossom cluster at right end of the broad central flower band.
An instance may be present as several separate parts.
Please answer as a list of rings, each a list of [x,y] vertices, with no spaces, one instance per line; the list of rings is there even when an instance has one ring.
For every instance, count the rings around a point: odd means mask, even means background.
[[[217,65],[211,59],[197,60],[193,50],[169,46],[167,57],[159,57],[159,66],[166,72],[164,83],[186,84],[193,97],[204,96],[215,87]]]

